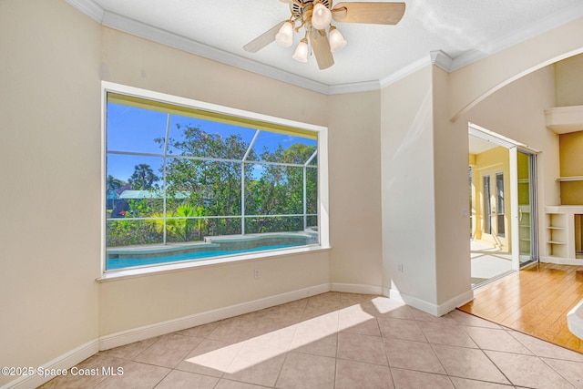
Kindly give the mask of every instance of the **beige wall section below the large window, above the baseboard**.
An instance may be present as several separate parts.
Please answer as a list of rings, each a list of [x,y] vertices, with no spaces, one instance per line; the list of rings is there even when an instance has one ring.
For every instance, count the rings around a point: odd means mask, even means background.
[[[254,269],[261,278],[253,278]],[[323,251],[104,282],[100,335],[327,284],[329,272]]]

